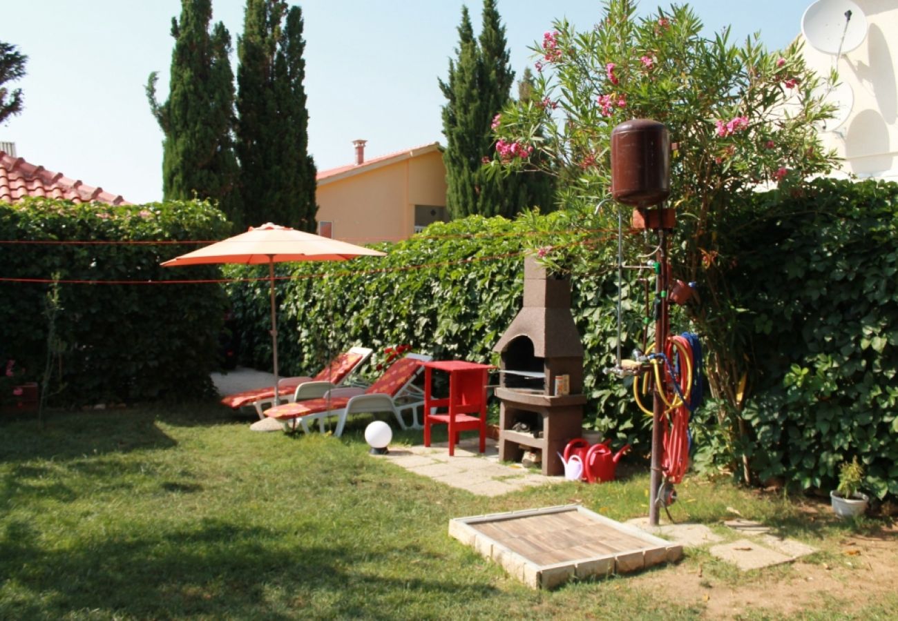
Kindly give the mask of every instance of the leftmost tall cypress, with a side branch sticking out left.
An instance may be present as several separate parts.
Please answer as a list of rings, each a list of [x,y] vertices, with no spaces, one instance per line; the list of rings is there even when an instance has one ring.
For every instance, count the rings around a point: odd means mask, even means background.
[[[172,18],[172,74],[168,100],[156,101],[156,72],[146,94],[162,127],[163,199],[210,198],[234,223],[242,222],[233,153],[231,36],[222,22],[209,32],[211,0],[181,0]]]

